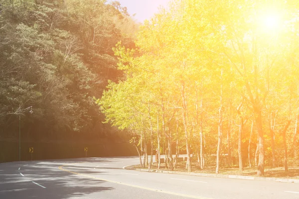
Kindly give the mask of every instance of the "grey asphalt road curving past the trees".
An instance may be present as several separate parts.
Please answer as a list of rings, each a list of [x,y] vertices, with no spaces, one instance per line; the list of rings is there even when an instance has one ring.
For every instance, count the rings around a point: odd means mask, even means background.
[[[299,199],[299,185],[124,170],[138,157],[0,164],[0,199]]]

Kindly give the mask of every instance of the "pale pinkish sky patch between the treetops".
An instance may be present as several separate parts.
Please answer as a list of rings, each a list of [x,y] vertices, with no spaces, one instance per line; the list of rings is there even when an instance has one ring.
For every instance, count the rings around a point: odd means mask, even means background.
[[[150,19],[154,13],[158,12],[161,5],[167,7],[169,0],[118,0],[123,7],[128,8],[128,12],[133,15],[139,22]]]

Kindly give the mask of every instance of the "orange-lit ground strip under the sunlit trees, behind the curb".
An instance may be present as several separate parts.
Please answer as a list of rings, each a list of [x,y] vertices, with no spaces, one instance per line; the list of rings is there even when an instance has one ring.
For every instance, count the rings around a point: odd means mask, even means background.
[[[186,162],[179,162],[177,164],[177,167],[173,171],[179,171],[179,172],[187,172],[187,169],[185,168]],[[194,173],[209,173],[209,174],[215,174],[215,167],[207,167],[204,169],[200,169],[197,162],[193,162],[191,164],[192,166],[192,172]],[[142,168],[140,165],[134,166],[134,168]],[[151,169],[157,170],[156,164],[153,164]],[[164,171],[170,171],[170,169],[165,168],[165,164],[161,163],[160,170]],[[223,175],[239,175],[239,176],[257,176],[257,168],[256,167],[246,167],[244,168],[244,171],[239,171],[238,167],[232,167],[232,168],[219,168],[220,174]],[[264,177],[268,178],[287,178],[287,179],[299,179],[299,167],[289,167],[289,171],[285,172],[284,167],[277,167],[277,168],[271,168],[271,167],[265,167],[265,175]]]

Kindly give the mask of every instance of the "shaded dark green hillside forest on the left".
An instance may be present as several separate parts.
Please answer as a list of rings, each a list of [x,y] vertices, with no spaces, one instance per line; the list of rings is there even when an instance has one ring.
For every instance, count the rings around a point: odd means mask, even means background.
[[[122,141],[93,98],[138,28],[117,1],[0,0],[0,139]]]

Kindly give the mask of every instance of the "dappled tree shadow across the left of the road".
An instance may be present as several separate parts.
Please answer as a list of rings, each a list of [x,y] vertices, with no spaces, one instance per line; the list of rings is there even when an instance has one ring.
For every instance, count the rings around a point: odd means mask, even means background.
[[[84,178],[58,169],[61,165],[74,164],[87,160],[99,164],[109,162],[107,160],[88,158],[51,162],[16,162],[0,165],[0,199],[88,198],[93,193],[114,190],[115,188],[110,187],[111,184],[105,181]],[[25,164],[28,165],[24,166]],[[19,167],[20,170],[18,170]],[[70,165],[70,167],[77,168],[77,172],[80,170],[76,164]],[[85,174],[101,173],[91,167],[83,167],[83,169],[88,169],[87,171],[82,171],[82,173]],[[21,176],[20,173],[22,173],[24,177]],[[32,181],[46,188],[44,189],[33,184]]]

